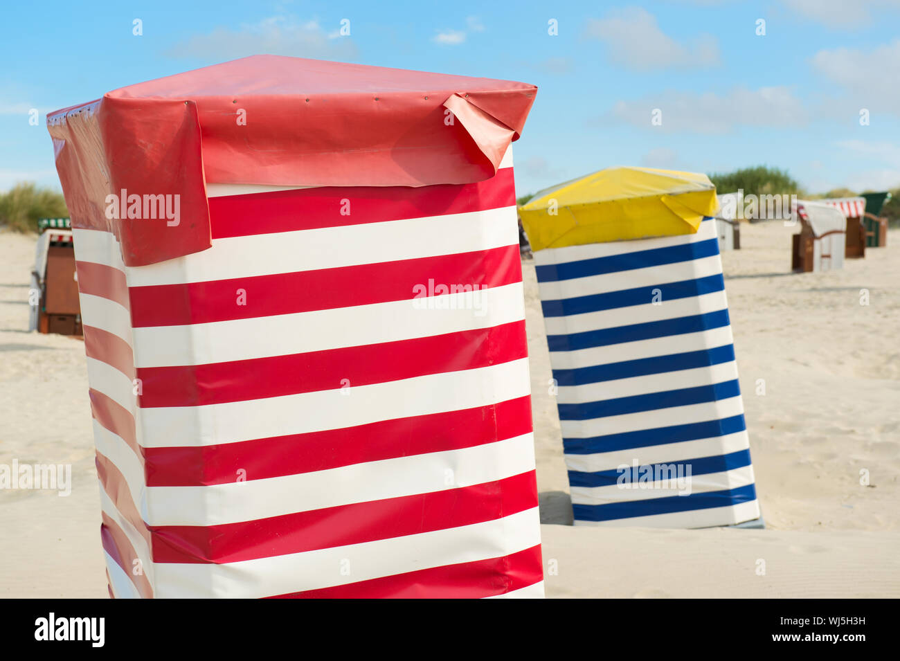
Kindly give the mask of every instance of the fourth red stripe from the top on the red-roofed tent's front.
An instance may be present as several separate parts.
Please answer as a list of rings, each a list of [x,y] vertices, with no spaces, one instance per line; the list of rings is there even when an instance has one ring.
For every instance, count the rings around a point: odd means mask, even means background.
[[[240,475],[247,479],[277,478],[470,448],[531,431],[531,397],[526,396],[325,432],[203,447],[144,448],[143,452],[148,487],[191,487],[234,482],[238,471],[244,471]]]

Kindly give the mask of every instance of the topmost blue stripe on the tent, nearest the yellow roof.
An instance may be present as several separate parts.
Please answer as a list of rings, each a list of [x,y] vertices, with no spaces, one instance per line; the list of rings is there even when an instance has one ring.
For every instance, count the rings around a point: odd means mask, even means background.
[[[633,269],[644,269],[650,266],[662,266],[662,264],[676,264],[678,262],[692,262],[695,259],[711,257],[719,254],[719,239],[711,238],[706,241],[681,246],[667,246],[654,248],[653,250],[641,250],[622,255],[609,255],[608,257],[594,257],[582,259],[578,262],[565,262],[563,264],[545,264],[536,267],[537,280],[551,282],[571,280],[572,278],[584,278],[589,275],[603,275]]]

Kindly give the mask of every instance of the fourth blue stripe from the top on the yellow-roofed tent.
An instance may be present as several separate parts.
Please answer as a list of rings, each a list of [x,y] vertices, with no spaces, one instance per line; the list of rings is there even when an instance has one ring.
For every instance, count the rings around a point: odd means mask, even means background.
[[[639,358],[634,361],[608,362],[604,365],[580,367],[574,370],[554,370],[558,386],[583,386],[617,379],[643,377],[647,374],[662,374],[667,371],[693,370],[723,362],[734,361],[734,344],[717,346],[715,349],[670,353],[653,358]]]

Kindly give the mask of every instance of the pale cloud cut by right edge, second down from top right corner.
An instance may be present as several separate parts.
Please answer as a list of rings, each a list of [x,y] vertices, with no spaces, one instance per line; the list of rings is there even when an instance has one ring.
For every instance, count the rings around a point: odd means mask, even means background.
[[[900,115],[900,39],[869,50],[820,50],[812,65],[850,93],[858,108]]]

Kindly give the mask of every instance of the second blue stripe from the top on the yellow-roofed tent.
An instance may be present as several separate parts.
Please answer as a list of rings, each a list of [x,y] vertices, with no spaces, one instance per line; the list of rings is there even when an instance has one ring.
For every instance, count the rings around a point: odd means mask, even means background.
[[[646,305],[653,302],[654,295],[662,300],[689,299],[702,296],[713,291],[725,289],[722,273],[707,275],[678,282],[654,284],[648,287],[635,287],[631,290],[607,291],[602,294],[576,296],[572,299],[545,300],[541,303],[545,317],[567,317],[581,315],[585,312],[599,312],[614,308],[628,308],[633,305]],[[657,291],[658,290],[658,291]]]

